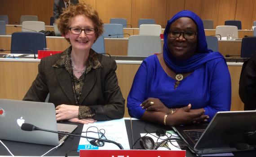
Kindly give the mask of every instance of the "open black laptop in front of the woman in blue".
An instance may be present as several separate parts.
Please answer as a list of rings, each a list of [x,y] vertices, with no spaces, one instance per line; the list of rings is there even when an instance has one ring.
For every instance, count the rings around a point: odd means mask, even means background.
[[[217,112],[212,121],[172,126],[200,154],[254,150],[256,111]]]

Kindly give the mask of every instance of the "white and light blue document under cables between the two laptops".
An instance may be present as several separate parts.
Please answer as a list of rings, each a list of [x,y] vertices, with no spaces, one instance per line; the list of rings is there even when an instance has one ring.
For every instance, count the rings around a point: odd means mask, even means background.
[[[124,149],[130,149],[128,135],[126,131],[126,126],[124,122],[124,118],[111,120],[111,121],[103,121],[103,122],[94,122],[92,124],[84,124],[83,132],[85,131],[94,131],[94,132],[102,132],[104,133],[107,140],[115,141],[123,146]],[[100,138],[101,134],[88,132],[82,133],[83,136]],[[119,150],[120,148],[115,144],[106,143],[103,147],[93,146],[89,143],[90,139],[80,138],[78,150],[80,149],[99,149],[99,150]]]

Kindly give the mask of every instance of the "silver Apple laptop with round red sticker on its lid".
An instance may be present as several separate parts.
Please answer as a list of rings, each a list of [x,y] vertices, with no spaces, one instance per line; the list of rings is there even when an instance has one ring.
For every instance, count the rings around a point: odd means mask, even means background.
[[[68,131],[77,127],[57,124],[55,106],[52,103],[0,99],[0,139],[35,144],[58,145],[67,136],[59,139],[57,133],[45,131],[22,131],[22,123],[30,123],[42,129]]]

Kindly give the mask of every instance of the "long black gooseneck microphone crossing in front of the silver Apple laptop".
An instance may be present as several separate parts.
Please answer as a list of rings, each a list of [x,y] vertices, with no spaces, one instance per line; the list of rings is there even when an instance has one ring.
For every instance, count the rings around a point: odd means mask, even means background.
[[[120,149],[124,149],[123,146],[115,141],[111,141],[111,140],[105,140],[105,139],[97,139],[94,137],[88,137],[88,136],[82,136],[82,135],[75,135],[75,134],[70,134],[70,133],[64,133],[64,132],[58,132],[58,131],[51,131],[51,130],[46,130],[46,129],[42,129],[39,127],[36,127],[32,124],[29,123],[23,123],[21,126],[21,129],[23,131],[47,131],[47,132],[53,132],[53,133],[57,133],[57,134],[63,134],[63,135],[71,135],[71,136],[77,136],[77,137],[82,137],[82,138],[87,138],[87,139],[92,139],[93,142],[91,142],[91,144],[97,143],[97,141],[103,141],[103,142],[108,142],[108,143],[112,143],[117,145]]]

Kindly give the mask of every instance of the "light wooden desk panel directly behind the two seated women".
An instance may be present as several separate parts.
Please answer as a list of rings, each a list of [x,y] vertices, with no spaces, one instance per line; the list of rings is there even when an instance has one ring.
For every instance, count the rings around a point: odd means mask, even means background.
[[[0,61],[0,98],[22,100],[31,83],[38,73],[39,62],[18,62]],[[140,64],[117,64],[117,78],[125,106],[127,96],[132,86],[133,78]],[[243,110],[243,102],[238,95],[238,83],[242,66],[229,65],[232,85],[231,110]],[[129,117],[128,110],[125,108],[125,117]]]

